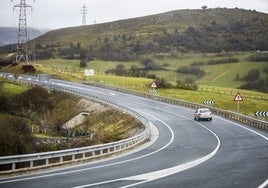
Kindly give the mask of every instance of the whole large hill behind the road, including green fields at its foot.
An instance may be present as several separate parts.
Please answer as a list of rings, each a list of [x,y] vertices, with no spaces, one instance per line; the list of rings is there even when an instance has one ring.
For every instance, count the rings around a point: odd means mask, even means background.
[[[267,32],[265,13],[237,8],[177,10],[62,28],[36,38],[31,46],[36,60],[54,68],[74,70],[79,61],[90,60],[88,67],[100,74],[133,76],[136,71],[140,77],[146,72],[150,78],[155,75],[173,83],[232,88],[251,82],[246,88],[267,92],[268,54],[262,53],[268,51]],[[15,48],[0,48],[0,54]],[[127,70],[118,73],[120,67]],[[252,69],[257,75],[247,80]]]

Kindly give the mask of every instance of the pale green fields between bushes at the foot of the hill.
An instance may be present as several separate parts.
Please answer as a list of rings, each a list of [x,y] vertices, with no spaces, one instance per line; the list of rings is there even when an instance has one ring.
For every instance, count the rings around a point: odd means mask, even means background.
[[[244,81],[237,81],[237,75],[239,75],[240,78],[243,78],[251,69],[258,69],[262,78],[267,77],[267,73],[263,72],[265,66],[267,66],[267,62],[250,62],[247,60],[248,57],[254,53],[255,52],[237,52],[223,57],[221,57],[220,54],[215,53],[181,53],[177,54],[177,58],[151,57],[156,63],[165,65],[165,70],[149,71],[149,73],[160,78],[165,78],[167,81],[172,83],[175,83],[177,80],[185,81],[186,78],[190,78],[195,80],[195,83],[199,85],[237,88],[245,83]],[[206,64],[210,60],[226,59],[228,57],[238,59],[238,62],[218,65]],[[182,66],[190,66],[192,63],[196,62],[204,63],[199,66],[200,69],[206,72],[203,77],[177,72],[178,68]],[[92,60],[88,62],[86,68],[80,68],[79,63],[79,60],[62,59],[50,59],[37,62],[37,64],[55,71],[81,73],[81,75],[83,75],[85,69],[94,69],[96,75],[104,75],[106,70],[115,69],[118,64],[123,64],[127,69],[129,69],[132,65],[143,67],[140,61],[120,62]]]

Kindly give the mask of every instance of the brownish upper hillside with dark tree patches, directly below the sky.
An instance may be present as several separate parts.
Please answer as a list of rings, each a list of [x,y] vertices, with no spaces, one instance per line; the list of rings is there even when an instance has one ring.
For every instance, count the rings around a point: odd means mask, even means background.
[[[63,28],[35,40],[37,58],[130,60],[174,52],[268,50],[268,14],[242,9],[177,10]]]

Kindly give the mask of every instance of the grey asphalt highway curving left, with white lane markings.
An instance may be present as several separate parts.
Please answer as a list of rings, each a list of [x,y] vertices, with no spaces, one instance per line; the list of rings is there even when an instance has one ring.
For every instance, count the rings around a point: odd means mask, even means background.
[[[86,91],[137,111],[152,124],[151,141],[109,159],[1,178],[0,188],[268,187],[265,131],[220,116],[197,122],[193,109],[106,89],[57,80],[49,84]]]

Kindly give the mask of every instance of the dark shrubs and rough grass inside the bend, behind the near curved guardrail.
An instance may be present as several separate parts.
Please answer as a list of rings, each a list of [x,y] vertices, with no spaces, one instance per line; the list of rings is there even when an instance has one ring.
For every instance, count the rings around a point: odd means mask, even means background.
[[[73,128],[80,132],[92,131],[94,137],[64,137],[61,134],[64,123],[81,111],[91,109],[93,102],[82,105],[80,100],[62,92],[28,88],[1,79],[0,156],[107,143],[128,138],[143,129],[132,116],[105,106],[105,110],[94,110],[88,121]]]

